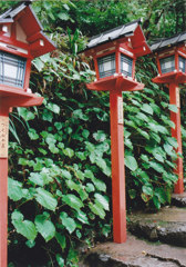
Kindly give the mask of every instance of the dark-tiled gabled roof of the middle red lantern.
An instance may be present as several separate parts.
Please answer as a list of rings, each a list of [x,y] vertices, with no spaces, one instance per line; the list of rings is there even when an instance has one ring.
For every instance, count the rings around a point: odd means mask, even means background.
[[[84,51],[87,51],[92,48],[96,48],[101,44],[104,44],[114,40],[128,37],[132,39],[132,48],[134,48],[134,53],[136,49],[136,56],[144,56],[149,53],[151,50],[146,43],[144,33],[140,26],[141,22],[142,22],[141,19],[134,20],[130,23],[118,26],[114,29],[104,31],[97,36],[92,37]],[[142,49],[142,51],[140,52],[141,48],[143,48],[144,46],[145,46],[145,49]]]

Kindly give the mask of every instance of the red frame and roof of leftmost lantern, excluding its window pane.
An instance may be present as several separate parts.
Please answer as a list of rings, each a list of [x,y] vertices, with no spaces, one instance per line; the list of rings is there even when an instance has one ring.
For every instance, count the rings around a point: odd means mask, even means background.
[[[0,16],[0,51],[25,60],[22,87],[0,82],[0,96],[31,92],[29,89],[31,61],[55,49],[55,44],[43,33],[30,1],[23,1]]]

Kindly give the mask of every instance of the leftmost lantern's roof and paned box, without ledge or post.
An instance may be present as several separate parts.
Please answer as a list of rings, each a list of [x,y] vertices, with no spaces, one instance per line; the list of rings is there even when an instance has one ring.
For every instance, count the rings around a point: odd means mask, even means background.
[[[55,49],[25,1],[0,16],[0,96],[30,92],[31,60]]]

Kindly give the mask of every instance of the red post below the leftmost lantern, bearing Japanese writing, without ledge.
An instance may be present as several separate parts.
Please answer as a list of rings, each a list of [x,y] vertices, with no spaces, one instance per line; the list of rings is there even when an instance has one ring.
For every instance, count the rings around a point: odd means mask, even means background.
[[[9,107],[0,105],[0,266],[7,267]]]

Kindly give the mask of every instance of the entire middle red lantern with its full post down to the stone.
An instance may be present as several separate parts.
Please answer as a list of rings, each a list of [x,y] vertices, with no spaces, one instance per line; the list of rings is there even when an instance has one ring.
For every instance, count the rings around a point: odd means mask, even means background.
[[[123,97],[122,91],[144,88],[135,80],[137,57],[151,52],[141,20],[105,31],[91,38],[84,50],[92,56],[96,80],[90,90],[110,91],[113,236],[115,243],[126,241],[126,199],[124,170]]]

